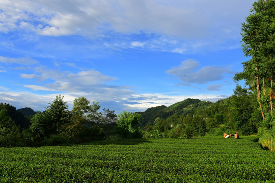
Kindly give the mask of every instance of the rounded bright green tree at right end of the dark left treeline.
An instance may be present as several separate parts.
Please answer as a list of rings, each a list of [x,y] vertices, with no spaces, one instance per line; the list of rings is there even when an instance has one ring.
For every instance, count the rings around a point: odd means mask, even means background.
[[[141,128],[137,126],[142,121],[142,116],[134,112],[123,112],[118,115],[116,121],[116,133],[122,138],[140,138]]]

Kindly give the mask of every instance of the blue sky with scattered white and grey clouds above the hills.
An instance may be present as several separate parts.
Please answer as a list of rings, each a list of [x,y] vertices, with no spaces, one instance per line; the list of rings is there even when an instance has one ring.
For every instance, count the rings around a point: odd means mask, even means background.
[[[0,102],[145,111],[233,94],[254,0],[1,0]],[[239,83],[243,85],[243,83]]]

